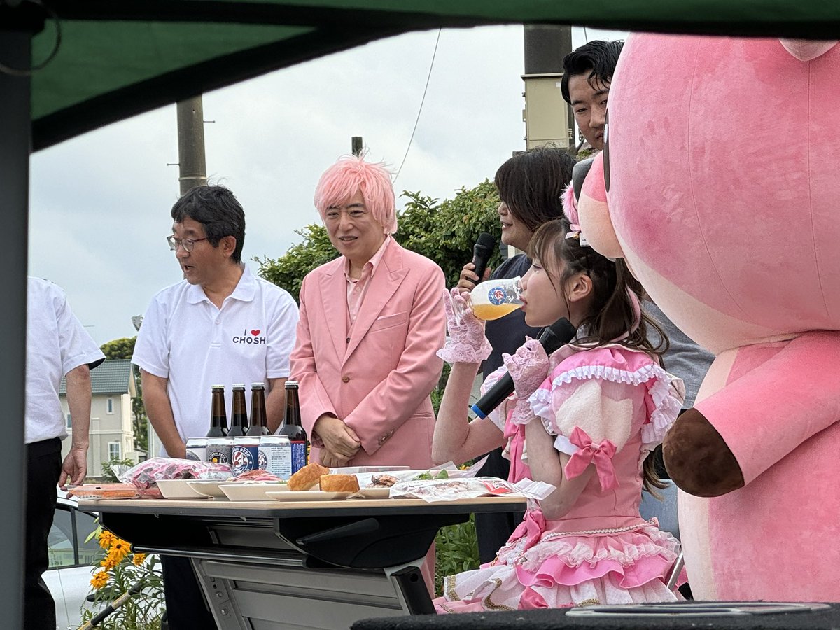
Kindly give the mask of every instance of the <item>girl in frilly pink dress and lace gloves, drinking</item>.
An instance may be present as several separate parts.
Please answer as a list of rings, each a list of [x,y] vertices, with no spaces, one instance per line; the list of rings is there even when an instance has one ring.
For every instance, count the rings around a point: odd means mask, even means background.
[[[645,460],[685,390],[660,367],[664,349],[648,343],[655,323],[639,307],[638,282],[622,261],[588,247],[575,219],[545,223],[533,235],[522,310],[531,326],[567,318],[577,336],[550,357],[533,339],[506,354],[516,392],[484,419],[469,422],[464,410],[490,345],[482,323],[470,312],[456,322],[447,303],[449,339],[438,354],[453,367],[433,459],[460,462],[504,446],[510,480],[556,490],[528,507],[495,560],[444,579],[438,612],[681,599],[666,585],[680,543],[638,507],[643,486],[662,487]],[[451,298],[464,306],[457,290]]]

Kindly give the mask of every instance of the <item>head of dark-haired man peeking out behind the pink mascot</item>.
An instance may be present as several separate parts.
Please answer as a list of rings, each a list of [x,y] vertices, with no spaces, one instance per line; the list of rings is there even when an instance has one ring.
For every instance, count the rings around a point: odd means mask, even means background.
[[[560,92],[572,106],[580,133],[595,150],[604,148],[606,97],[622,41],[591,41],[563,59]]]

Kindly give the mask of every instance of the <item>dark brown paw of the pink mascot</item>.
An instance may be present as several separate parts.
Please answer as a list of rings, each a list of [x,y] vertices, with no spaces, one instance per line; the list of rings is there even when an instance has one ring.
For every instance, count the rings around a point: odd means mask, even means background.
[[[743,488],[738,461],[701,412],[689,409],[678,417],[662,443],[671,480],[694,496],[721,496]]]

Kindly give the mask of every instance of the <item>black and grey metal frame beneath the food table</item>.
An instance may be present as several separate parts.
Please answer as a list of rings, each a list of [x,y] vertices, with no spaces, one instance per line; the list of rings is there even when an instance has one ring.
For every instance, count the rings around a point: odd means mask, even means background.
[[[190,558],[222,630],[346,630],[359,619],[433,613],[419,567],[438,528],[464,522],[470,508],[417,515],[356,505],[350,514],[325,506],[276,516],[223,502],[201,516],[100,514],[136,551]]]

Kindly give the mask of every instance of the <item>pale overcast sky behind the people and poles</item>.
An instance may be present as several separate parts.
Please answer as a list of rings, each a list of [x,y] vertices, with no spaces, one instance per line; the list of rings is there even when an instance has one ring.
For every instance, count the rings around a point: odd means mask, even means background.
[[[277,258],[300,242],[296,229],[318,223],[318,177],[349,153],[351,136],[364,138],[370,159],[399,167],[437,37],[405,34],[204,95],[204,119],[214,121],[205,125],[207,175],[244,207],[244,260]],[[583,30],[573,39],[583,44]],[[523,63],[521,26],[440,34],[397,194],[452,197],[524,148]],[[175,105],[32,157],[29,275],[65,289],[97,344],[134,336],[131,317],[181,280],[165,242],[179,190],[178,167],[167,163],[177,161]]]

